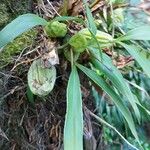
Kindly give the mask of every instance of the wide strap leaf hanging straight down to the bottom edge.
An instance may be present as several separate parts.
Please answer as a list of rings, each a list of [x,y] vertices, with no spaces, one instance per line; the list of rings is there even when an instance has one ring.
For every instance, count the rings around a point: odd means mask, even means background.
[[[64,150],[83,150],[83,112],[80,82],[74,66],[67,87]]]

